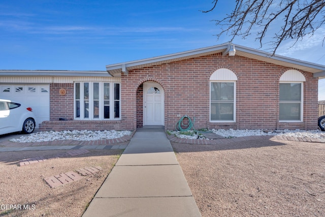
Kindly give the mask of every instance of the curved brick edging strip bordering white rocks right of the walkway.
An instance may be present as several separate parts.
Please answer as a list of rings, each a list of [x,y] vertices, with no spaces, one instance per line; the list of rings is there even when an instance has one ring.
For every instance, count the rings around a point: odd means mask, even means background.
[[[283,140],[283,141],[298,141],[298,142],[318,142],[325,143],[325,138],[302,138],[293,136],[244,136],[224,139],[182,139],[175,135],[168,135],[167,138],[171,142],[185,143],[185,144],[197,144],[197,145],[216,145],[231,142],[241,142],[246,140],[258,140],[258,139],[272,139],[272,140]]]

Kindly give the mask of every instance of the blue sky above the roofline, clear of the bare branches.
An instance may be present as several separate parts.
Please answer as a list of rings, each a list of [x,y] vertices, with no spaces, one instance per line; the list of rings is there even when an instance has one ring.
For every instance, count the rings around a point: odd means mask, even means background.
[[[230,13],[235,1],[219,0],[216,10],[202,13],[212,0],[85,1],[2,0],[0,3],[0,69],[100,70],[106,65],[197,49],[218,41],[211,20]],[[325,65],[325,28],[277,54]],[[233,42],[259,49],[255,36]],[[263,50],[268,47],[263,47]],[[319,82],[325,100],[325,79]]]

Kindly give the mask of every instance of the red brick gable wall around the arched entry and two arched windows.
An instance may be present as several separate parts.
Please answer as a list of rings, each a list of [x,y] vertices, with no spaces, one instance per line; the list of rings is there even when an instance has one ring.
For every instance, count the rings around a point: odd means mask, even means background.
[[[209,122],[209,79],[220,68],[232,70],[238,78],[235,123]],[[318,80],[307,72],[302,72],[306,77],[304,122],[278,121],[279,78],[287,70],[246,57],[214,54],[129,71],[127,76],[122,75],[123,125],[135,129],[137,121],[141,122],[138,120],[141,118],[138,113],[141,112],[137,113],[138,87],[145,81],[156,81],[165,90],[165,127],[168,130],[175,128],[180,118],[178,115],[185,114],[196,118],[196,129],[317,129]]]

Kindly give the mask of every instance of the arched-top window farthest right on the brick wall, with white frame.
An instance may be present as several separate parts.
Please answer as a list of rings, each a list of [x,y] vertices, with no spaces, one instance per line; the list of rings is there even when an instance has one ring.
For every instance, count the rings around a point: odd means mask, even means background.
[[[303,121],[303,89],[305,76],[288,70],[280,77],[279,121]]]

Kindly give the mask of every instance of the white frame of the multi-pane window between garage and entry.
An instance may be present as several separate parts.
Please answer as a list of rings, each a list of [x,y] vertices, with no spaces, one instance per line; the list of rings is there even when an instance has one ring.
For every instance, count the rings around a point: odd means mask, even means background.
[[[80,83],[80,117],[76,117],[76,83]],[[84,118],[84,83],[89,83],[89,117]],[[93,83],[99,83],[99,117],[93,117]],[[104,118],[104,83],[110,84],[110,118]],[[114,117],[114,84],[120,85],[119,88],[119,117]],[[74,82],[74,120],[121,120],[121,83],[119,82],[107,82],[107,81],[75,81]],[[91,109],[90,109],[91,108]]]

